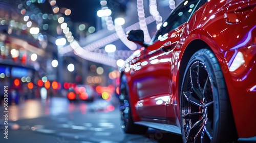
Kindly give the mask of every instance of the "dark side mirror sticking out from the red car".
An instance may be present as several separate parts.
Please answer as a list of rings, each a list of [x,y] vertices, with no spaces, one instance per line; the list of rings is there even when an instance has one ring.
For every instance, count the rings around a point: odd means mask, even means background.
[[[144,44],[144,32],[142,30],[130,30],[127,32],[126,37],[129,41],[146,46]]]

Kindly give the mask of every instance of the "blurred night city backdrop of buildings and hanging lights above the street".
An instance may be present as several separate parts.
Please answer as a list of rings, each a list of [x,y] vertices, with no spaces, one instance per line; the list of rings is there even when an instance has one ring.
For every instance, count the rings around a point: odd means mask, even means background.
[[[150,43],[179,2],[0,0],[0,86],[29,99],[86,84],[110,100],[118,66],[140,48],[126,32],[142,29]]]

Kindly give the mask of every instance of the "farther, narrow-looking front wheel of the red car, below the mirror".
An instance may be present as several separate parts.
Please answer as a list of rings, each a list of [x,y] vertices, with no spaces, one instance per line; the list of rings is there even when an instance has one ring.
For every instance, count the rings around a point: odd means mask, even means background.
[[[132,110],[130,106],[129,90],[126,77],[123,75],[120,82],[120,95],[119,95],[119,113],[121,128],[125,133],[130,134],[144,134],[147,127],[134,124],[132,117]]]

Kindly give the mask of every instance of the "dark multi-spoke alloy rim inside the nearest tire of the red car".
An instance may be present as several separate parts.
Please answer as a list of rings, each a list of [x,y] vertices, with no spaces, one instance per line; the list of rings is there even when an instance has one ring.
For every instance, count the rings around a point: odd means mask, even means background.
[[[182,131],[186,142],[210,142],[214,128],[211,78],[201,61],[195,61],[188,69],[181,98]]]

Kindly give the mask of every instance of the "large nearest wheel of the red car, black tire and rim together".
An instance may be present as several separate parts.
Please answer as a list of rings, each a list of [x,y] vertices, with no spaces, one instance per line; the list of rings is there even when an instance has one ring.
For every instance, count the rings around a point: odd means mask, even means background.
[[[233,142],[236,128],[220,64],[210,50],[189,60],[180,92],[183,142]]]

